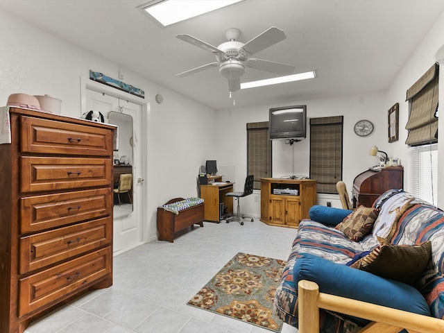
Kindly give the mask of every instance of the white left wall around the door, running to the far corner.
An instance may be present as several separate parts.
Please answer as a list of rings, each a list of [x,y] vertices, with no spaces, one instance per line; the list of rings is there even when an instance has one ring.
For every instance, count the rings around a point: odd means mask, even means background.
[[[217,139],[213,128],[206,126],[214,110],[29,26],[20,17],[0,12],[0,31],[0,105],[6,105],[13,93],[49,94],[62,100],[63,115],[80,117],[85,109],[85,84],[92,83],[89,69],[113,78],[118,78],[121,69],[124,82],[144,90],[146,98],[139,99],[144,103],[146,153],[144,236],[155,239],[157,207],[171,198],[197,195],[198,167],[214,153]],[[164,96],[162,104],[155,102],[155,94]]]

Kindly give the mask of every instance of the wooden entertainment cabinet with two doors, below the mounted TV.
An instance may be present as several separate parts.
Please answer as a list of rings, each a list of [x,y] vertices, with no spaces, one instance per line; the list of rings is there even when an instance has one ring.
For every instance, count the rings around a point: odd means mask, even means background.
[[[302,219],[308,219],[308,211],[316,205],[316,180],[261,178],[261,218],[269,225],[298,228]],[[298,195],[275,194],[275,189],[291,189]]]

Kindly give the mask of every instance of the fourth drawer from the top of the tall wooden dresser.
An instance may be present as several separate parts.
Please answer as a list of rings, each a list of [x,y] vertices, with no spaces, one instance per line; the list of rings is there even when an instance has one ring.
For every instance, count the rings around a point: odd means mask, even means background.
[[[111,217],[106,217],[20,238],[19,273],[111,244],[111,223]]]

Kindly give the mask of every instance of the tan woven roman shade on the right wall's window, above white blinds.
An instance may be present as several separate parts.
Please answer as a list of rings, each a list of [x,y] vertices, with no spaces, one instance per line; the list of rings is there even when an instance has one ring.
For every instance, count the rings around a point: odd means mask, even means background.
[[[421,78],[407,90],[407,101],[411,103],[409,130],[406,144],[420,146],[438,142],[439,67],[434,64]]]

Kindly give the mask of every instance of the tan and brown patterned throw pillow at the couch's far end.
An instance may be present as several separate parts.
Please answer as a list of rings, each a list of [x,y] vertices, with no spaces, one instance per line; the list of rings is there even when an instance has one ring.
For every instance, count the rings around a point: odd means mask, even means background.
[[[355,212],[336,225],[336,229],[341,230],[352,241],[360,241],[371,232],[378,214],[379,210],[360,205]]]

